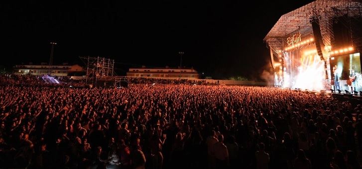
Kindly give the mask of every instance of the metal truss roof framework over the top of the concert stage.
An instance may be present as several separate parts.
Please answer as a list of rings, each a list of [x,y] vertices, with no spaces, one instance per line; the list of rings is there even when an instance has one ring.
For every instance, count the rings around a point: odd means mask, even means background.
[[[350,17],[361,17],[361,0],[316,0],[289,13],[282,15],[269,33],[264,37],[264,41],[272,48],[274,54],[283,49],[280,42],[285,41],[287,36],[298,30],[300,34],[312,32],[310,19],[319,19],[323,43],[331,45],[334,40],[332,24],[333,18],[348,15]],[[359,39],[356,39],[358,41]],[[362,40],[361,40],[362,41]],[[283,55],[281,55],[283,56]]]

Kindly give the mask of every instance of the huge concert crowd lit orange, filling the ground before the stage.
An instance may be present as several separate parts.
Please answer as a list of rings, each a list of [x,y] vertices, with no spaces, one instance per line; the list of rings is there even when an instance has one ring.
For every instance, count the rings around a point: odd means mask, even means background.
[[[0,168],[360,169],[362,107],[275,87],[13,85]]]

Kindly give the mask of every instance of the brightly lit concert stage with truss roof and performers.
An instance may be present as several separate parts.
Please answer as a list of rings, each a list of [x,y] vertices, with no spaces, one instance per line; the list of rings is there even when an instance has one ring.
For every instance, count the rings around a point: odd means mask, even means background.
[[[360,0],[316,0],[282,15],[264,38],[275,85],[361,91],[361,10]]]

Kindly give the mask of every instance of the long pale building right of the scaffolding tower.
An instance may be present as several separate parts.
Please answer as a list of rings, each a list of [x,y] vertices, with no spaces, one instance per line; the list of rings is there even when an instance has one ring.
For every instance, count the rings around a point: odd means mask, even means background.
[[[199,79],[199,74],[193,68],[129,68],[127,77],[161,78],[161,79]]]

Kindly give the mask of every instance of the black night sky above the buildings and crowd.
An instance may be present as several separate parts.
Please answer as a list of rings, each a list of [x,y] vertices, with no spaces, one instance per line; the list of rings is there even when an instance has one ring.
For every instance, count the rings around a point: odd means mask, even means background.
[[[6,1],[6,2],[4,2]],[[270,66],[263,37],[279,17],[311,0],[4,0],[1,58],[14,65],[115,59],[128,67],[194,67],[214,78],[258,77]],[[8,64],[9,63],[9,64]]]

